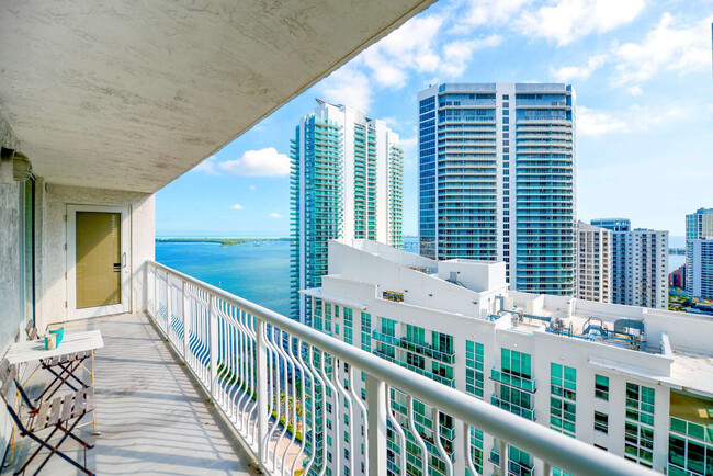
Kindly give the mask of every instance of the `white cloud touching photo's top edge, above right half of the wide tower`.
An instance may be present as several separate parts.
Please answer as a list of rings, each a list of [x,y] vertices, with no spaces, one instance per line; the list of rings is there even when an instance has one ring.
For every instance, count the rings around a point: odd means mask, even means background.
[[[525,34],[565,46],[591,33],[606,33],[633,21],[644,0],[558,0],[525,11],[516,25]]]

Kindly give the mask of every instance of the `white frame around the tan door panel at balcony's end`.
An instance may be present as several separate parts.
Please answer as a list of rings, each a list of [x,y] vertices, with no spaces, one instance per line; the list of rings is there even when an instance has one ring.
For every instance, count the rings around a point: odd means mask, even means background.
[[[122,296],[121,303],[77,309],[77,212],[121,214]],[[128,206],[67,205],[67,320],[131,313],[132,309],[132,247],[131,213]]]

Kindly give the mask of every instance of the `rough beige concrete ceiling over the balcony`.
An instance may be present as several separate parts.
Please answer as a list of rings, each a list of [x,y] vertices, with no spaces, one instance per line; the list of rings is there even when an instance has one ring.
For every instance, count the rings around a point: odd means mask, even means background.
[[[0,2],[0,113],[48,182],[155,192],[433,0]]]

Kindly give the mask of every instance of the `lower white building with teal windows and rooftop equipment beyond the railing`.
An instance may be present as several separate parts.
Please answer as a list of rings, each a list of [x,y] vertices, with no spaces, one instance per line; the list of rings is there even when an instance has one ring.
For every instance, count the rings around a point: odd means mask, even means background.
[[[710,318],[512,292],[503,262],[434,261],[366,240],[330,241],[329,274],[305,294],[314,326],[347,343],[656,471],[713,472]],[[353,390],[364,395],[364,383]],[[509,475],[543,474],[518,447],[418,400],[411,413],[407,395],[391,395],[389,474],[404,461],[407,474],[421,475],[423,461],[445,474],[464,438],[480,474],[503,463]],[[319,403],[328,430],[317,473],[347,474],[349,458],[356,468],[364,458],[359,432],[330,431],[335,419],[364,424],[340,401]],[[463,461],[453,469],[466,474]]]

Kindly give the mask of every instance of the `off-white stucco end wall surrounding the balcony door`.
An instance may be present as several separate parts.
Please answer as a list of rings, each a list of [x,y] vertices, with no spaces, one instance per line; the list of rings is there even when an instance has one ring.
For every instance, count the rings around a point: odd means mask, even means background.
[[[154,259],[154,195],[139,192],[100,190],[46,184],[42,200],[45,209],[42,222],[42,256],[36,267],[43,275],[37,288],[38,328],[68,318],[67,301],[67,214],[68,204],[128,206],[131,211],[132,310],[144,308],[144,262]]]

